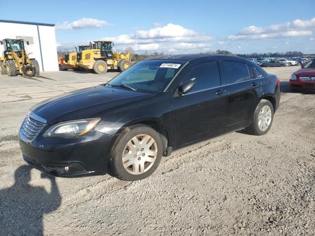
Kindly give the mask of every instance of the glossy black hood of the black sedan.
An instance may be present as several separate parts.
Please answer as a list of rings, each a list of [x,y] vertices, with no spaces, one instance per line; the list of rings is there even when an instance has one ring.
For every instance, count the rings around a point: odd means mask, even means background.
[[[115,106],[154,94],[99,85],[52,97],[36,104],[30,110],[35,115],[46,119],[48,124],[54,124],[65,120],[88,118]]]

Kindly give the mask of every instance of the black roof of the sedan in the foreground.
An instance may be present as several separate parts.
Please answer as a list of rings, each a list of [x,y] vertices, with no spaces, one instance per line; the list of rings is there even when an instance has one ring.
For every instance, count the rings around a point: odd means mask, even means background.
[[[244,60],[247,59],[235,57],[235,56],[227,56],[227,55],[209,55],[209,54],[181,54],[174,56],[160,56],[155,58],[150,58],[146,60],[181,60],[181,61],[191,61],[195,59],[234,59],[234,60]]]

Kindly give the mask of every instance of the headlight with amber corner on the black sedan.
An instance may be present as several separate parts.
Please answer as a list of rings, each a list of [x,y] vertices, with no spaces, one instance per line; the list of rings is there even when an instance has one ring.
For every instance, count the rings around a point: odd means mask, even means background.
[[[98,124],[100,118],[77,119],[61,122],[51,126],[44,137],[72,138],[86,134]]]

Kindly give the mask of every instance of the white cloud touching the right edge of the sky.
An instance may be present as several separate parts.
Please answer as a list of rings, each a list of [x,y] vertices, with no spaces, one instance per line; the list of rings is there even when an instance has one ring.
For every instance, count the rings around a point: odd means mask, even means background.
[[[297,37],[312,35],[315,29],[315,18],[311,20],[294,20],[279,25],[271,25],[265,28],[250,26],[241,29],[236,35],[228,36],[231,40],[242,39],[264,39],[264,38],[281,38]]]

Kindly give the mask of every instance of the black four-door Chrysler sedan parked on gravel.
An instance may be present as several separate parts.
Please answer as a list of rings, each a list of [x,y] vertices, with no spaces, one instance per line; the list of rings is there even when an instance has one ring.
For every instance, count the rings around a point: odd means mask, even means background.
[[[162,156],[231,131],[266,134],[280,82],[231,56],[183,55],[134,64],[107,84],[31,108],[19,131],[24,160],[50,175],[150,176]]]

